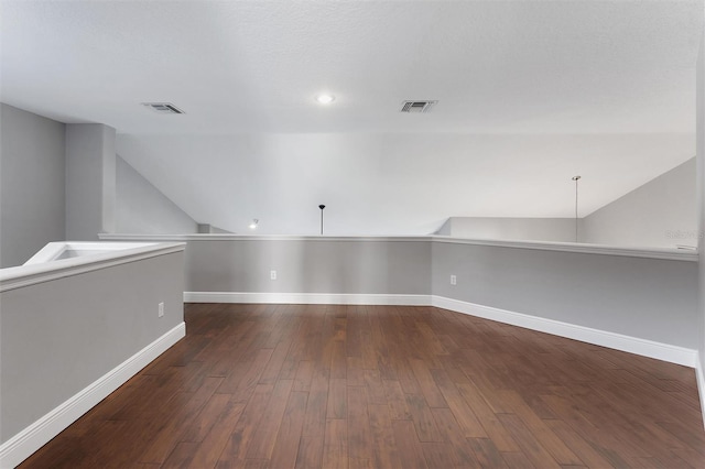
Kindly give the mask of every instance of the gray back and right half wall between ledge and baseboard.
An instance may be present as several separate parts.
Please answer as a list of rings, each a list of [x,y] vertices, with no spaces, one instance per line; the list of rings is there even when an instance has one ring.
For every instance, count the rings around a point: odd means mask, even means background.
[[[187,242],[187,292],[433,294],[690,349],[698,343],[696,262],[438,239]]]

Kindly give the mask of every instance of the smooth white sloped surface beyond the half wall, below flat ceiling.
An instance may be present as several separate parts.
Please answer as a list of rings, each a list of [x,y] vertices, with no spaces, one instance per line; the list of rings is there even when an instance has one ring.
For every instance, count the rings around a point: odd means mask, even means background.
[[[325,204],[326,233],[341,236],[427,234],[452,216],[572,218],[575,174],[583,216],[695,151],[690,134],[120,134],[117,146],[200,222],[316,234]]]

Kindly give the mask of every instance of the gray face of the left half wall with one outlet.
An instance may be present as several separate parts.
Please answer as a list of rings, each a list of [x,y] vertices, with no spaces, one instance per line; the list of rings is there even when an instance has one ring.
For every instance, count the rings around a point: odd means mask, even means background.
[[[0,443],[181,324],[183,262],[177,252],[2,292]]]

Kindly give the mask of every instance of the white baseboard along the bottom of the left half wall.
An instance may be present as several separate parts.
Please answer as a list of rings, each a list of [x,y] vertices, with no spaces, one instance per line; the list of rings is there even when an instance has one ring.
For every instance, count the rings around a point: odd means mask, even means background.
[[[13,468],[30,457],[78,417],[120,388],[166,349],[186,335],[181,323],[169,332],[104,374],[97,381],[34,422],[0,446],[0,468]]]

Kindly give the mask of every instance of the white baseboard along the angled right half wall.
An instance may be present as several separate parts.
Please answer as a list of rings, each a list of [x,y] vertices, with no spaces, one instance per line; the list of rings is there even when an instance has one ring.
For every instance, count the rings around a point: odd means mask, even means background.
[[[685,367],[697,368],[698,363],[697,350],[686,349],[684,347],[640,339],[606,330],[593,329],[585,326],[576,326],[574,324],[562,323],[560,320],[546,319],[522,313],[513,313],[490,306],[476,305],[443,296],[434,295],[432,297],[432,305],[457,313],[496,320],[498,323],[511,324],[527,329],[553,334],[554,336],[566,337],[568,339],[581,340],[596,346],[608,347],[610,349],[655,358],[671,363],[683,364]]]

